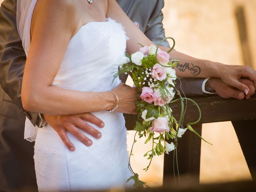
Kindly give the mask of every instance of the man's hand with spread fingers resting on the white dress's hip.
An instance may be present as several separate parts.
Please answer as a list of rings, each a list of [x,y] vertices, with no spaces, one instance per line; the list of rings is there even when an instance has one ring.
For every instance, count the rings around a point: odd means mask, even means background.
[[[80,132],[78,128],[99,139],[102,136],[101,133],[92,126],[90,126],[90,124],[88,124],[87,122],[90,122],[100,128],[104,127],[104,122],[90,113],[65,116],[52,116],[44,114],[44,119],[50,126],[52,126],[52,128],[54,128],[54,130],[58,133],[58,135],[70,151],[74,151],[75,146],[72,144],[72,142],[70,142],[66,131],[69,131],[86,146],[91,146],[92,140],[82,134],[82,132]]]

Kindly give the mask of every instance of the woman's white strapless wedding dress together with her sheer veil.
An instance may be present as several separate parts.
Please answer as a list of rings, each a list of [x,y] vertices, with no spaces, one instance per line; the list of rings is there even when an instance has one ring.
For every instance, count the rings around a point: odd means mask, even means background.
[[[18,30],[26,54],[30,47],[30,22],[37,0],[18,0]],[[23,4],[23,6],[22,6]],[[124,60],[126,35],[121,24],[108,18],[106,22],[89,22],[70,39],[53,85],[77,91],[108,91],[120,80],[112,80],[112,72]],[[49,69],[50,70],[50,69]],[[90,101],[88,100],[88,105]],[[124,116],[118,112],[93,112],[104,121],[96,129],[102,138],[87,147],[69,132],[76,146],[70,152],[55,130],[48,124],[39,128],[34,146],[38,190],[76,191],[123,186],[132,175],[128,169]],[[25,129],[30,129],[26,120]]]

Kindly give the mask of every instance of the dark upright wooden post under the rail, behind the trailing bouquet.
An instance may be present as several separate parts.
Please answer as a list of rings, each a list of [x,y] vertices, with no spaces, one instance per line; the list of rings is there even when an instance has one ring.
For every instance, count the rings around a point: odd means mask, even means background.
[[[193,126],[199,133],[202,133],[202,124]],[[178,166],[181,183],[199,184],[200,176],[200,154],[201,139],[189,130],[178,140]],[[176,159],[173,158],[174,152],[164,154],[164,181],[163,186],[174,183],[174,171],[176,184],[178,174],[176,169]],[[173,168],[173,164],[175,169]]]

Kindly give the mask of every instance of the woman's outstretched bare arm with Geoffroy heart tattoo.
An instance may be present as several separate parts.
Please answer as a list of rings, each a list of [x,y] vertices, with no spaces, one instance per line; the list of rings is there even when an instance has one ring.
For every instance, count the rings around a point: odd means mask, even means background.
[[[128,16],[126,16],[126,14],[115,0],[108,0],[107,16],[115,19],[117,22],[120,22],[124,26],[127,36],[130,38],[130,40],[127,41],[127,52],[129,54],[139,50],[140,45],[138,43],[144,46],[154,44],[143,34],[139,28],[134,25]],[[165,51],[168,50],[168,48],[162,46],[160,48]],[[246,90],[249,90],[248,86],[238,81],[238,79],[243,76],[254,81],[254,85],[256,86],[256,74],[254,74],[255,70],[248,66],[224,65],[218,62],[193,58],[176,50],[170,52],[170,58],[179,59],[182,66],[184,66],[184,64],[189,64],[190,67],[192,67],[193,64],[198,71],[196,77],[212,76],[222,78],[225,83],[246,92]],[[192,74],[188,68],[182,66],[175,68],[177,76],[195,77],[195,74]]]

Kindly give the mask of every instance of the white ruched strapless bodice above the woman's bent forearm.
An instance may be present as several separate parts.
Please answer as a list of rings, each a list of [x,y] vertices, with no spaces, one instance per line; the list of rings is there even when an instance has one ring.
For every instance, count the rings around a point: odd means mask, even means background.
[[[70,39],[53,85],[79,91],[110,90],[120,83],[116,79],[112,84],[112,75],[123,62],[125,49],[121,24],[110,18],[89,22]]]

